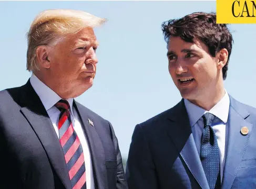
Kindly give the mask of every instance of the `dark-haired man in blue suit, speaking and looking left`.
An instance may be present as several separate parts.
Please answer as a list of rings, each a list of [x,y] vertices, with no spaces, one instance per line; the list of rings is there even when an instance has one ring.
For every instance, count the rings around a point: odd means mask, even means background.
[[[233,38],[214,13],[162,24],[169,73],[182,99],[135,127],[130,189],[256,187],[256,109],[224,88]],[[254,187],[253,187],[254,186]]]

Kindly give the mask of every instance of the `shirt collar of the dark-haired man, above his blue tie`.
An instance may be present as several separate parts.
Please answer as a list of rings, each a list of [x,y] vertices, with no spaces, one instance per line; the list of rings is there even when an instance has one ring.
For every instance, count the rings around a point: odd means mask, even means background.
[[[191,103],[190,101],[188,101],[188,99],[185,99],[184,103],[187,109],[191,127],[197,123],[197,121],[203,116],[203,114],[208,112],[207,110]],[[229,95],[225,90],[225,95],[221,98],[221,100],[215,106],[213,106],[209,110],[209,113],[218,117],[220,120],[223,121],[224,124],[226,124],[228,121],[228,115],[229,115],[229,104],[230,104]]]

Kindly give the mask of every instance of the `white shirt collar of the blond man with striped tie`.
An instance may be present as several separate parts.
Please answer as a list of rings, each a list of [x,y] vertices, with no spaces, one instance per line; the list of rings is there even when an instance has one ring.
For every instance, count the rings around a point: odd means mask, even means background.
[[[34,88],[35,92],[39,96],[42,101],[46,111],[52,108],[60,99],[62,99],[57,93],[55,93],[51,88],[49,88],[46,84],[40,81],[37,76],[32,73],[30,77],[30,83]],[[69,106],[73,107],[74,98],[67,99]],[[73,113],[73,108],[71,109],[71,114]]]

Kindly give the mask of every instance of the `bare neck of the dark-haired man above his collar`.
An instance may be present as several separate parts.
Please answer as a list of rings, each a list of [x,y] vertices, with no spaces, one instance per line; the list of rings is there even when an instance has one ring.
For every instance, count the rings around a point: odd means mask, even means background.
[[[203,94],[202,98],[193,99],[193,100],[189,99],[189,101],[209,111],[213,106],[215,106],[221,100],[221,98],[223,98],[224,95],[225,95],[225,90],[222,83],[222,85],[216,87],[216,90],[214,92],[206,92]]]

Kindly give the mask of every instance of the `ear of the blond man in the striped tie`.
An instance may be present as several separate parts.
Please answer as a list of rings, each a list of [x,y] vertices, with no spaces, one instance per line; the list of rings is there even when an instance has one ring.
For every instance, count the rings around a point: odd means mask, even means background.
[[[49,49],[46,46],[39,46],[36,48],[36,60],[39,67],[49,69],[50,60],[48,58]]]

